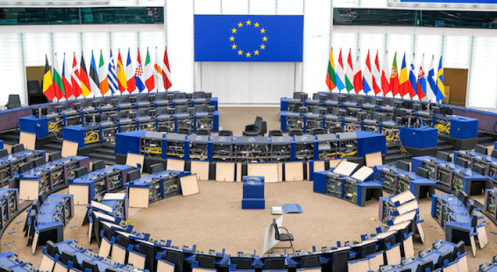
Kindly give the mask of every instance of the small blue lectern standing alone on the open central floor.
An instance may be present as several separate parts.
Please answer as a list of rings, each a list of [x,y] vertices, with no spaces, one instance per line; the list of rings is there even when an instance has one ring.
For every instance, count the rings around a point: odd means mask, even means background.
[[[264,177],[244,176],[244,197],[241,209],[264,209]]]

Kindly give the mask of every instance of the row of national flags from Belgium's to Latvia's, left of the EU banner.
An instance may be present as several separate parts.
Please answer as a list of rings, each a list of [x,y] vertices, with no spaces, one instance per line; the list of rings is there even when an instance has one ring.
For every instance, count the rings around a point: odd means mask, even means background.
[[[112,50],[108,58],[108,63],[105,63],[102,51],[100,51],[98,66],[94,58],[94,52],[92,51],[92,61],[88,68],[84,62],[83,54],[79,64],[76,60],[76,54],[73,54],[72,68],[66,63],[64,54],[62,69],[59,69],[57,54],[55,54],[53,70],[50,69],[48,57],[45,56],[43,93],[49,101],[52,101],[54,98],[58,100],[63,98],[68,99],[73,95],[76,98],[80,96],[86,98],[90,94],[93,94],[94,97],[99,94],[103,96],[109,91],[112,94],[122,94],[126,91],[131,94],[135,90],[139,92],[161,91],[162,89],[167,90],[172,86],[167,48],[164,51],[163,61],[159,61],[158,50],[156,49],[156,56],[153,62],[147,48],[143,64],[138,49],[137,60],[134,66],[130,57],[130,51],[131,49],[127,51],[126,63],[122,61],[121,51],[118,51],[117,65],[115,64]]]

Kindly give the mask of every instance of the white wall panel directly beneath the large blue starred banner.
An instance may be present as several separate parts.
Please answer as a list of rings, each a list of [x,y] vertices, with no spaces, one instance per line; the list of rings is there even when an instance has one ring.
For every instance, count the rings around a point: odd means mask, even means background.
[[[203,92],[222,104],[278,104],[294,92],[294,63],[202,62]]]

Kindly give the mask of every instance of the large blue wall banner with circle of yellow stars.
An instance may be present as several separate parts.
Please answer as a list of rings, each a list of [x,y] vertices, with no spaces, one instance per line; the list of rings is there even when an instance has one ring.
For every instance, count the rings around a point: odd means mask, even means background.
[[[303,16],[196,15],[195,61],[302,61]]]

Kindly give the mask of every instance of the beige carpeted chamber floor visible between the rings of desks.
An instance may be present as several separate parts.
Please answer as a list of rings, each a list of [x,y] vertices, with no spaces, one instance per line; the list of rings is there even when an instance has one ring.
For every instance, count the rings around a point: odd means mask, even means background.
[[[279,128],[278,108],[221,108],[220,124],[224,129],[233,130],[234,135],[241,135],[244,125],[253,123],[257,115],[268,120],[268,130]],[[270,225],[272,216],[270,206],[296,203],[300,204],[303,214],[284,215],[283,225],[295,237],[294,247],[308,250],[336,245],[336,241],[360,239],[360,235],[375,232],[381,223],[378,218],[378,202],[373,199],[361,208],[341,199],[313,192],[313,183],[291,182],[265,185],[266,209],[241,209],[241,183],[216,183],[199,181],[200,194],[189,197],[172,197],[164,199],[149,210],[130,209],[130,220],[137,221],[135,229],[151,233],[155,239],[172,240],[173,245],[197,245],[208,251],[223,248],[228,254],[237,252],[262,253],[265,228]],[[61,191],[65,193],[67,190]],[[482,197],[478,198],[482,201]],[[64,239],[75,239],[82,247],[89,247],[98,252],[95,242],[89,245],[86,234],[88,226],[82,226],[86,206],[76,206],[76,215],[65,228]],[[427,241],[420,244],[415,240],[415,249],[431,247],[432,241],[443,239],[443,231],[430,215],[431,200],[420,201],[420,216]],[[25,246],[23,224],[26,213],[16,218],[8,226],[0,239],[1,252],[12,250],[23,261],[39,266],[42,259],[41,247],[33,256],[30,247]],[[70,229],[70,226],[77,226]],[[429,227],[436,226],[432,230]],[[487,225],[487,233],[497,232],[495,225]],[[14,235],[8,233],[15,232]],[[497,236],[489,235],[489,245],[478,250],[477,258],[468,258],[470,270],[477,270],[479,264],[490,261],[497,253]],[[6,242],[13,245],[6,247]],[[469,250],[469,248],[467,248]]]

